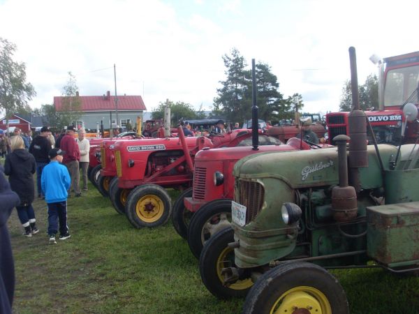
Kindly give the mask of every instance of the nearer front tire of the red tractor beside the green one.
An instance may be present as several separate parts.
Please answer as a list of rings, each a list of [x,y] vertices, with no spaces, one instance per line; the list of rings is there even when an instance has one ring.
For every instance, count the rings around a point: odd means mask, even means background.
[[[193,255],[199,258],[205,242],[230,225],[231,200],[213,200],[198,209],[188,228],[188,244]]]

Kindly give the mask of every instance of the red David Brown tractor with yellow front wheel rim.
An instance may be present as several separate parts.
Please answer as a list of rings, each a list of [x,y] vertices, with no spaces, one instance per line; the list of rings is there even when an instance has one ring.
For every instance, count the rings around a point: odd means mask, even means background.
[[[212,132],[210,137],[179,137],[118,141],[112,150],[118,179],[110,185],[115,209],[125,213],[135,227],[156,227],[171,213],[165,188],[185,190],[193,181],[193,158],[205,147],[238,145],[251,137],[251,130]]]

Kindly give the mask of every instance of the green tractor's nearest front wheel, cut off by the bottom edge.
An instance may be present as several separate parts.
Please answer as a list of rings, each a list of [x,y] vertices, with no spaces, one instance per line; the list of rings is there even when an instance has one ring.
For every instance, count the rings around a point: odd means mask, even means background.
[[[253,285],[243,314],[348,314],[348,300],[337,279],[308,262],[286,262],[270,269]]]

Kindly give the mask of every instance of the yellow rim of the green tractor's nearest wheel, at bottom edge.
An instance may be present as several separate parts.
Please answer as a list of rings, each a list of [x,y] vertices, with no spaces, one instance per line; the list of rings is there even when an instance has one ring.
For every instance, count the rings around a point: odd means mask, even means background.
[[[270,314],[291,313],[332,314],[332,308],[323,292],[302,285],[282,294],[270,310]]]

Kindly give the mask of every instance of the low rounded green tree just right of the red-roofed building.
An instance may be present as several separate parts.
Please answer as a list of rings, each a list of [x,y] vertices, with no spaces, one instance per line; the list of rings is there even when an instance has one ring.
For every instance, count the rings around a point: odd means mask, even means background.
[[[152,115],[153,119],[163,119],[164,117],[164,108],[166,105],[170,105],[170,125],[172,127],[177,126],[179,124],[179,120],[188,120],[188,119],[200,119],[202,115],[198,114],[193,110],[192,105],[189,103],[184,103],[182,101],[177,101],[176,103],[172,101],[168,102],[160,102],[159,106],[153,110]]]

